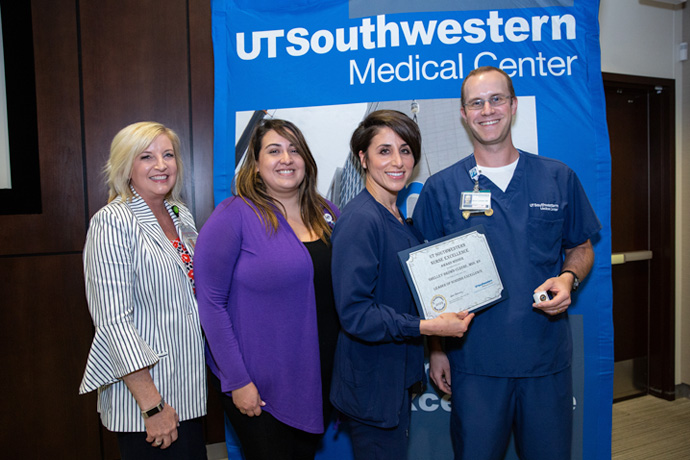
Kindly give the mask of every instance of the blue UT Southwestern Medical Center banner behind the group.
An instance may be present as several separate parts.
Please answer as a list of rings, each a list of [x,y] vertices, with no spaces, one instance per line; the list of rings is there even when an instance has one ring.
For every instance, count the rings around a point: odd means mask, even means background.
[[[253,127],[275,117],[303,131],[319,191],[344,205],[362,188],[348,159],[352,131],[369,112],[389,108],[422,132],[422,160],[398,203],[410,215],[425,179],[472,153],[460,120],[463,79],[485,65],[512,77],[516,147],[568,164],[604,225],[593,241],[595,267],[571,309],[581,315],[571,320],[579,327],[574,336],[582,336],[574,353],[573,458],[583,459],[610,458],[613,380],[611,167],[598,11],[598,0],[212,0],[216,203],[232,194]],[[426,458],[418,452],[431,446],[449,449],[447,403],[429,393],[414,404],[410,458]],[[429,425],[422,416],[433,414],[441,428],[422,431]],[[337,438],[332,429],[326,442]],[[351,455],[338,452],[323,458]],[[516,457],[510,450],[506,458]]]

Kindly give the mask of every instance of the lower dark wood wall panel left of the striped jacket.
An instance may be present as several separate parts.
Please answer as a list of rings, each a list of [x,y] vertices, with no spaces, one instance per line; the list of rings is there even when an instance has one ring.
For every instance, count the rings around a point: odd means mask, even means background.
[[[93,337],[81,255],[0,264],[3,458],[99,458],[95,394],[78,389]]]

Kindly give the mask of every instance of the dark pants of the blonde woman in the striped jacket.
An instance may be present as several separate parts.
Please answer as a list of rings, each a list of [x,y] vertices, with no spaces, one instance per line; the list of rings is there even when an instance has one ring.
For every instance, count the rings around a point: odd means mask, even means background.
[[[167,449],[146,442],[146,432],[118,432],[122,460],[206,460],[206,442],[201,418],[185,420],[177,427],[177,441]]]

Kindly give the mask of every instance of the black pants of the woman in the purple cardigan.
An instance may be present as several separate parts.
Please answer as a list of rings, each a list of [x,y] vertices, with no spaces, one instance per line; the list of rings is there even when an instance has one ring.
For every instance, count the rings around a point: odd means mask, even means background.
[[[220,382],[211,374],[211,383]],[[321,440],[320,434],[307,433],[286,425],[266,411],[258,417],[242,414],[232,397],[220,392],[223,410],[242,445],[245,460],[313,460]]]

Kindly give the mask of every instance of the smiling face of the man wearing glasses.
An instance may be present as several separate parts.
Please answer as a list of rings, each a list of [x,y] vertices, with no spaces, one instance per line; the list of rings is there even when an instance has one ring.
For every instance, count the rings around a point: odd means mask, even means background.
[[[467,79],[463,101],[475,99],[486,101],[491,96],[510,96],[506,77],[496,71],[473,75]],[[517,111],[517,99],[511,98],[507,104],[492,107],[485,102],[480,110],[468,110],[462,106],[462,119],[474,138],[473,143],[483,146],[512,146],[511,123]]]

